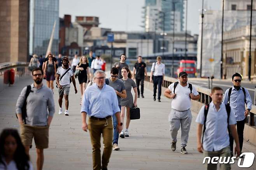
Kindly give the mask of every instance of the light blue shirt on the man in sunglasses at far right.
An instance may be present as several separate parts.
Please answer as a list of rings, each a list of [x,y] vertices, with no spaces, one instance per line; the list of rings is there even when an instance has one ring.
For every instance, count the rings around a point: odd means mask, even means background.
[[[245,99],[247,102],[247,109],[252,109],[252,99],[251,96],[246,88],[245,90]],[[226,90],[223,103],[228,104],[228,91],[229,88]],[[233,108],[235,113],[235,118],[237,121],[244,120],[244,112],[245,112],[245,101],[244,101],[244,92],[242,87],[239,90],[232,87],[231,94],[230,94],[230,107]]]

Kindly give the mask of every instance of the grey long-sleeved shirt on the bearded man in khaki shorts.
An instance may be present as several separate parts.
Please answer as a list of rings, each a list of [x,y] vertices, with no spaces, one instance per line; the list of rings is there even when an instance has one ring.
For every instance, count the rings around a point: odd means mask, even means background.
[[[17,114],[21,114],[21,108],[25,100],[26,90],[27,87],[24,87],[19,95],[16,103]],[[31,126],[46,126],[48,115],[53,116],[55,112],[53,91],[45,85],[42,85],[42,87],[37,89],[34,84],[32,84],[31,92],[28,95],[26,102],[26,123]]]

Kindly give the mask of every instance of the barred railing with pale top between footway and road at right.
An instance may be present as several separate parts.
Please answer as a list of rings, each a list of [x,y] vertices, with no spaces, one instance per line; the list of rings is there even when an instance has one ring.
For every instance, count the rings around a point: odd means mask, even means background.
[[[150,72],[148,72],[147,75],[150,75]],[[149,81],[149,76],[147,76],[146,81]],[[164,80],[163,80],[162,87],[167,88],[171,83],[174,83],[174,82],[177,82],[177,81],[178,81],[177,78],[172,78],[172,77],[165,76]],[[193,86],[196,87],[196,90],[200,94],[200,99],[198,100],[198,102],[201,102],[203,104],[208,104],[209,102],[212,101],[212,98],[210,97],[210,92],[211,92],[210,89],[200,87],[198,85],[193,85]],[[252,105],[252,109],[250,111],[250,114],[249,114],[249,116],[247,116],[247,119],[245,120],[245,122],[248,123],[249,126],[255,127],[255,124],[254,124],[254,117],[255,117],[254,115],[255,114],[256,114],[256,106]]]

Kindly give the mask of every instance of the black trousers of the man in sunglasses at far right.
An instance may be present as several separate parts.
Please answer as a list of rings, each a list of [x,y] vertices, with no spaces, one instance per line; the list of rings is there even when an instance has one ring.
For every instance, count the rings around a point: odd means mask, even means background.
[[[244,120],[237,121],[237,134],[238,134],[241,152],[242,152],[242,147],[243,147],[243,142],[244,142],[244,124],[245,124],[245,118],[244,118]],[[228,132],[229,132],[230,151],[233,152],[234,138],[231,135],[229,128],[228,128]]]

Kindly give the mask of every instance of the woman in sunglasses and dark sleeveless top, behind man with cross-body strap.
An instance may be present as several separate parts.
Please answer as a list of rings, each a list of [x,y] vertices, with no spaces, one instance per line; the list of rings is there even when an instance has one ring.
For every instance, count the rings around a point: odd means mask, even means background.
[[[53,55],[49,54],[47,58],[48,61],[45,62],[44,66],[44,77],[46,78],[47,87],[53,90],[53,81],[56,77],[56,64],[53,61]]]

